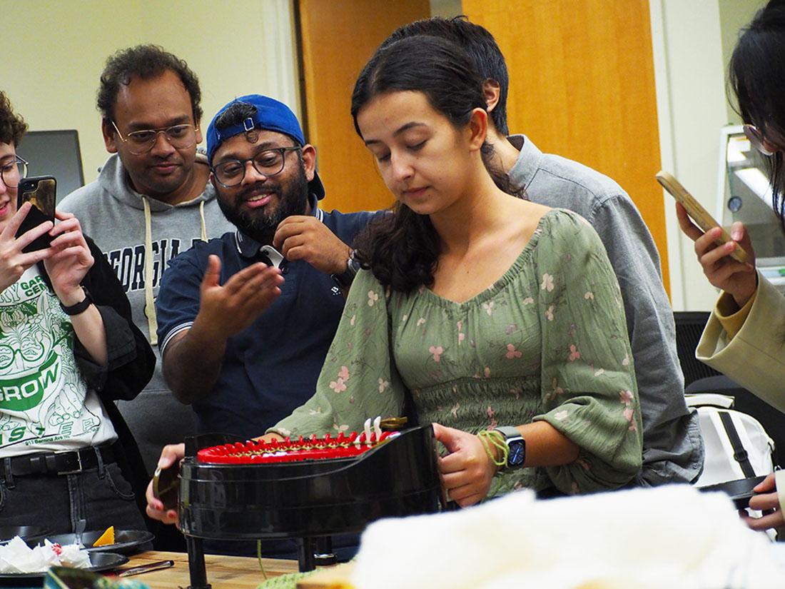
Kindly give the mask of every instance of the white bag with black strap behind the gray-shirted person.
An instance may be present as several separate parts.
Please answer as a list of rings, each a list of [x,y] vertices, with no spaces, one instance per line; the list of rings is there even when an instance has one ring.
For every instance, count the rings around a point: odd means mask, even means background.
[[[706,458],[697,487],[740,478],[759,477],[774,470],[774,441],[758,419],[732,409],[734,399],[719,393],[685,395],[696,408]]]

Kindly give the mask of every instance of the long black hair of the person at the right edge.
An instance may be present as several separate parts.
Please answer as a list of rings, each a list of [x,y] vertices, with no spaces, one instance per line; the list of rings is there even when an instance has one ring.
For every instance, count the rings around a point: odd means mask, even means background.
[[[745,123],[764,135],[785,137],[785,0],[771,0],[742,29],[728,67],[729,86]],[[781,149],[785,145],[778,145]],[[777,151],[767,158],[772,207],[785,228],[785,166]]]

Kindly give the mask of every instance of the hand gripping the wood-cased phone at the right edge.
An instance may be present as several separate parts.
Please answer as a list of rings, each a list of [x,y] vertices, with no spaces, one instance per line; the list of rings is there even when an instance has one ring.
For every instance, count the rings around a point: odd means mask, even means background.
[[[676,203],[676,216],[681,231],[695,242],[695,253],[698,262],[703,266],[703,273],[709,282],[722,291],[730,294],[739,308],[743,307],[758,288],[758,274],[755,272],[755,252],[747,228],[740,221],[731,227],[732,241],[718,246],[714,243],[720,238],[719,227],[701,231],[688,217],[687,210]],[[743,263],[731,257],[736,248],[747,252],[749,262]]]

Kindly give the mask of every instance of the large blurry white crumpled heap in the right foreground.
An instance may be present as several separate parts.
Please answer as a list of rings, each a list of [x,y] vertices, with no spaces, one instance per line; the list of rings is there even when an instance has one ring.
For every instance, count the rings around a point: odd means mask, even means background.
[[[356,589],[771,589],[785,569],[721,493],[688,485],[538,500],[511,493],[363,533]]]

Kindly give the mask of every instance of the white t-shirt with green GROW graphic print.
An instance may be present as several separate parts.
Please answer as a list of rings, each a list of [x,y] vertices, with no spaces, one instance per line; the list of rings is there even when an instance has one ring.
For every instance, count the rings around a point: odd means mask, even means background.
[[[117,438],[79,373],[74,338],[35,265],[0,292],[0,458]]]

